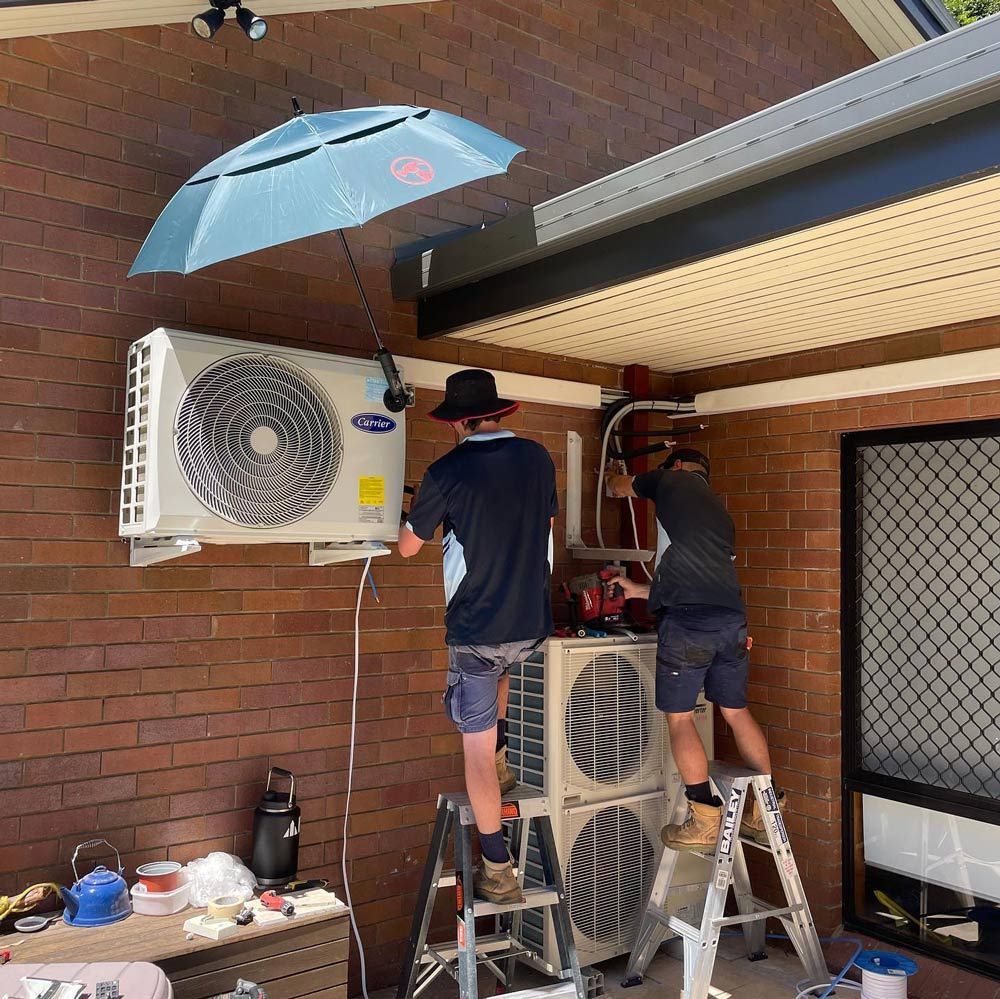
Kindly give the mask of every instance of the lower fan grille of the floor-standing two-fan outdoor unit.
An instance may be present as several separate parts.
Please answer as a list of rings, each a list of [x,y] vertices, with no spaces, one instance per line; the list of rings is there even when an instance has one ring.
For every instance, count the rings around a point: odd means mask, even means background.
[[[631,940],[656,873],[661,815],[654,798],[600,805],[568,821],[562,844],[566,891],[580,946]]]

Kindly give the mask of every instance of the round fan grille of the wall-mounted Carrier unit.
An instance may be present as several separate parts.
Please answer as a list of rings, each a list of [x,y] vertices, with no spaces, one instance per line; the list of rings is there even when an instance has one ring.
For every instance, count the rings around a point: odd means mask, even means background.
[[[266,354],[237,354],[198,375],[178,407],[175,444],[191,491],[241,527],[281,527],[311,513],[343,458],[322,386]]]

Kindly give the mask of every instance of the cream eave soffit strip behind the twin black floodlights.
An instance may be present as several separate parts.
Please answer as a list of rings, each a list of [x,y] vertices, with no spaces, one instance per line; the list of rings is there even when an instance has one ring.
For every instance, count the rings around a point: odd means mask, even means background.
[[[266,18],[306,11],[388,7],[405,2],[407,0],[247,0],[247,6],[255,14]],[[439,0],[424,2],[436,3]],[[133,28],[145,24],[184,24],[208,7],[209,0],[74,0],[69,3],[0,5],[0,38]]]

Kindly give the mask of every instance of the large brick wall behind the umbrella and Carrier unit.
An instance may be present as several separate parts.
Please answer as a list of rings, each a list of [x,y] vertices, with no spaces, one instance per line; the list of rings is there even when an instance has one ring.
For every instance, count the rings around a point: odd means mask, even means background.
[[[210,44],[184,25],[0,41],[0,892],[65,880],[74,844],[98,833],[130,867],[245,854],[270,762],[300,777],[303,869],[336,877],[358,567],[310,568],[301,546],[268,546],[128,568],[122,361],[161,324],[355,354],[368,336],[335,237],[126,282],[185,178],[283,121],[292,95],[307,111],[414,102],[480,121],[527,147],[509,176],[350,235],[381,327],[401,353],[614,384],[617,371],[557,358],[417,344],[412,307],[389,293],[393,248],[537,203],[871,58],[812,0],[463,0],[275,17],[256,46],[231,25]],[[432,401],[422,393],[419,412]],[[539,407],[514,425],[560,463],[568,427],[589,446],[596,430]],[[409,477],[446,446],[413,420]],[[375,572],[352,879],[381,984],[458,758],[437,704],[436,552]]]

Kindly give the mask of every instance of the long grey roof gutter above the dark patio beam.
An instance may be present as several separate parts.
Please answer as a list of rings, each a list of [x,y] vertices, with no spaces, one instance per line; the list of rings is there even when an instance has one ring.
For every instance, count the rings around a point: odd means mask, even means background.
[[[746,189],[1000,99],[1000,15],[766,108],[457,238],[404,248],[420,299]]]

